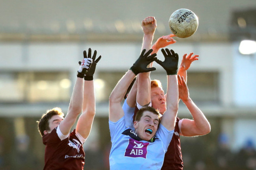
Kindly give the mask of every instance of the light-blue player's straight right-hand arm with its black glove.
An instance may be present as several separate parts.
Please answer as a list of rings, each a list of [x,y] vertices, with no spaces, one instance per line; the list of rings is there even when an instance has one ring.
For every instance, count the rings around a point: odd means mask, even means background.
[[[166,95],[166,105],[167,109],[161,118],[161,124],[169,131],[174,129],[176,116],[178,112],[178,80],[177,80],[177,70],[178,70],[178,54],[173,50],[165,49],[161,50],[165,60],[162,62],[157,60],[156,62],[160,64],[167,72],[167,95]]]

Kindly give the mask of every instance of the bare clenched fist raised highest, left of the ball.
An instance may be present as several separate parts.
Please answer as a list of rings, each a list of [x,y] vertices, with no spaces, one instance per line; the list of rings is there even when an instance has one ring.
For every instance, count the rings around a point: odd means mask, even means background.
[[[147,17],[141,22],[141,27],[144,35],[153,35],[156,30],[156,19],[155,17]]]

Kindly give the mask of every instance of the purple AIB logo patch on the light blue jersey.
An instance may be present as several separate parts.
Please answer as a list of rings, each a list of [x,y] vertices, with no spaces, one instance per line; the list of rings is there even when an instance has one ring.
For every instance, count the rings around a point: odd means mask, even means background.
[[[126,157],[147,157],[147,147],[149,143],[140,142],[134,139],[129,139],[129,144],[126,148],[124,156]]]

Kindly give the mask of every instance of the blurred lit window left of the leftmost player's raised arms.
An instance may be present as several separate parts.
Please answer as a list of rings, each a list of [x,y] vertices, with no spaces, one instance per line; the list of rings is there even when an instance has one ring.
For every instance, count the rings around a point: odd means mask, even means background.
[[[0,73],[0,102],[63,102],[70,100],[68,72]]]

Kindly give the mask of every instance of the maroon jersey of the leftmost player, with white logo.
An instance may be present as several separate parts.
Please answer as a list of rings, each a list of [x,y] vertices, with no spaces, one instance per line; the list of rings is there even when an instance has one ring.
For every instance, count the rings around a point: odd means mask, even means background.
[[[57,127],[43,136],[46,145],[44,170],[83,170],[85,153],[76,137],[76,129],[64,140],[59,139],[56,130]]]

